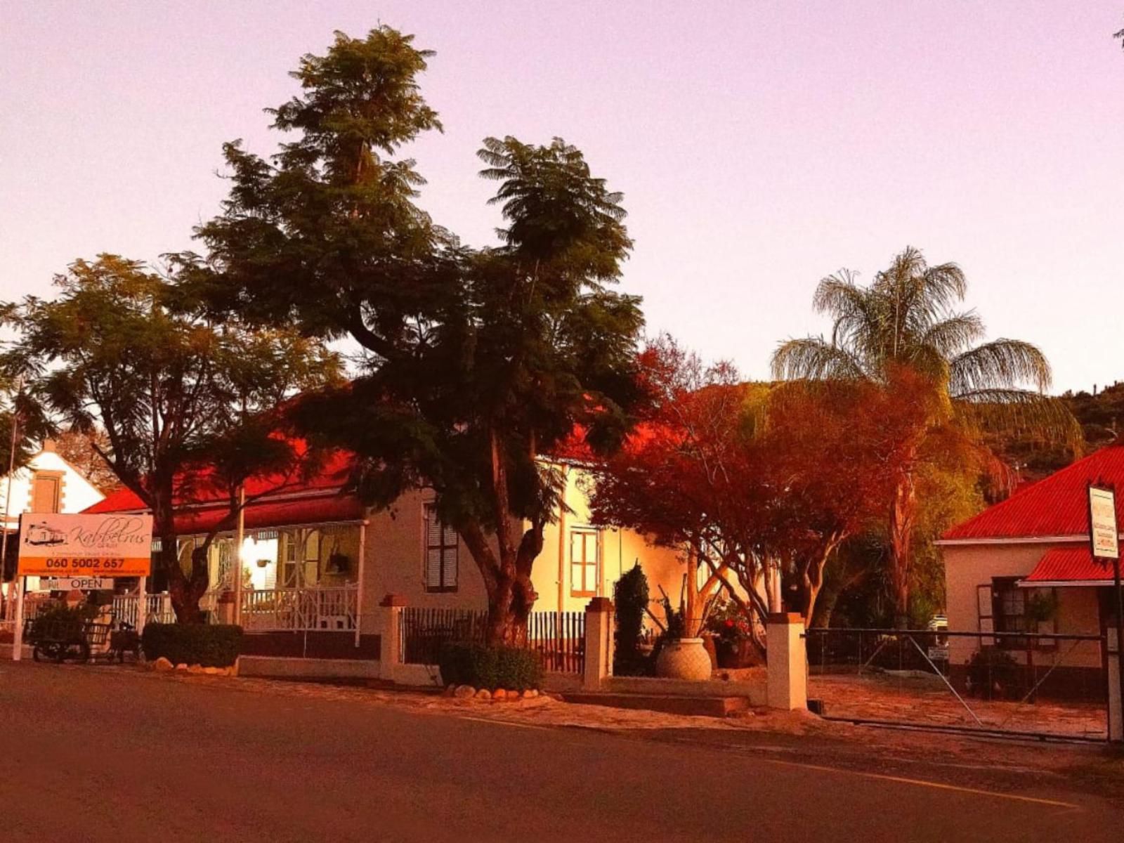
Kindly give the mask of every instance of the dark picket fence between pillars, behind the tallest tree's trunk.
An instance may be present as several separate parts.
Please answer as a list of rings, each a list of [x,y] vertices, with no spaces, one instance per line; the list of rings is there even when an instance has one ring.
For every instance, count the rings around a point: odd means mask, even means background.
[[[482,644],[486,638],[487,611],[406,607],[400,617],[400,658],[405,664],[436,664],[446,642]],[[540,654],[545,670],[581,673],[586,664],[584,613],[532,613],[526,647]]]

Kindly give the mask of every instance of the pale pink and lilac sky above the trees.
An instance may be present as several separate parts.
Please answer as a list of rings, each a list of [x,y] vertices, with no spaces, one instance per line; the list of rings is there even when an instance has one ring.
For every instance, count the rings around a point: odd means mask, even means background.
[[[481,139],[564,137],[625,193],[650,333],[765,378],[821,278],[913,245],[1054,391],[1124,380],[1121,0],[0,0],[0,298],[192,247],[221,144],[272,152],[298,58],[380,22],[437,52],[423,207],[490,244]]]

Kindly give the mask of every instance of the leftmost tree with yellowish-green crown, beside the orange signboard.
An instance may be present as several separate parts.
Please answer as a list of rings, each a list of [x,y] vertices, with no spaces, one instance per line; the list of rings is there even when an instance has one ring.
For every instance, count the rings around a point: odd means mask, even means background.
[[[117,255],[76,261],[55,283],[52,301],[27,297],[6,307],[18,336],[0,368],[26,375],[56,420],[105,430],[91,446],[152,510],[176,617],[198,620],[207,546],[233,526],[243,505],[237,487],[262,477],[279,488],[314,465],[312,451],[279,435],[275,408],[296,389],[330,382],[338,361],[292,332],[182,312],[169,279]],[[175,507],[216,491],[229,501],[228,515],[184,571]]]

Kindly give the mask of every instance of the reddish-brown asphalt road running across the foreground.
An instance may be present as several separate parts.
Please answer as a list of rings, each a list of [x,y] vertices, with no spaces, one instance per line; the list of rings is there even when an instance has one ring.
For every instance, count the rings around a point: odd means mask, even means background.
[[[0,840],[1120,840],[1107,800],[0,664]]]

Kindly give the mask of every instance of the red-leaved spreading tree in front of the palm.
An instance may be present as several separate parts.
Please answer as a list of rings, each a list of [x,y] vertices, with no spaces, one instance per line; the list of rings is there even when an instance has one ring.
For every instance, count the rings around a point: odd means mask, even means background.
[[[741,383],[669,337],[642,359],[652,411],[593,470],[593,519],[685,549],[688,609],[722,588],[760,628],[783,581],[810,620],[825,565],[887,499],[898,432],[932,411],[928,392],[887,406],[872,388]],[[707,571],[697,591],[692,563]]]

